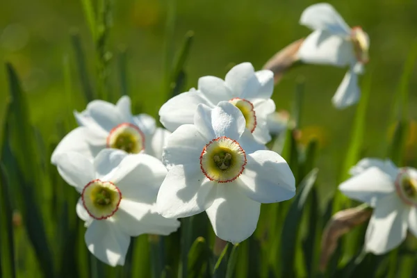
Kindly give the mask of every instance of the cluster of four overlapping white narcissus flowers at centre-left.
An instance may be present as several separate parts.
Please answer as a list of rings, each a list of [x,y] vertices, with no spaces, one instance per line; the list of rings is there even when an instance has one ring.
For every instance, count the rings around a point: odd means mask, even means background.
[[[76,213],[88,227],[88,250],[123,265],[131,236],[170,234],[177,218],[203,211],[219,238],[238,243],[256,229],[261,203],[291,199],[293,173],[265,147],[270,128],[285,126],[270,99],[273,78],[250,63],[225,80],[204,76],[197,90],[163,104],[167,130],[149,115],[132,115],[126,96],[74,113],[79,127],[51,163],[81,195]]]

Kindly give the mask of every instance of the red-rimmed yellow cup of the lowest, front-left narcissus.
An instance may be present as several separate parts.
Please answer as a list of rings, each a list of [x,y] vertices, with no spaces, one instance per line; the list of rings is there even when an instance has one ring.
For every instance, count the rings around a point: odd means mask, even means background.
[[[81,193],[83,206],[97,220],[111,217],[119,208],[122,193],[111,181],[90,181]]]

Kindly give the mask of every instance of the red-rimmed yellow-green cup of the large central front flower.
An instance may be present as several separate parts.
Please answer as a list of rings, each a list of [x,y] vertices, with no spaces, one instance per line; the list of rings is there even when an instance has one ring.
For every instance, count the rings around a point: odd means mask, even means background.
[[[202,172],[211,181],[227,183],[242,174],[246,165],[245,151],[236,140],[215,138],[204,146],[200,156]]]

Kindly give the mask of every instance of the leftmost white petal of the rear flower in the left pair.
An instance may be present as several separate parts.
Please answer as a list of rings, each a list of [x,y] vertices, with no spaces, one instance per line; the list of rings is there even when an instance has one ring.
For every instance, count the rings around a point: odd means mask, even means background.
[[[51,156],[51,163],[56,165],[56,156],[65,152],[78,152],[90,159],[94,158],[101,149],[106,147],[106,137],[102,137],[88,129],[80,126],[68,133],[54,149]]]

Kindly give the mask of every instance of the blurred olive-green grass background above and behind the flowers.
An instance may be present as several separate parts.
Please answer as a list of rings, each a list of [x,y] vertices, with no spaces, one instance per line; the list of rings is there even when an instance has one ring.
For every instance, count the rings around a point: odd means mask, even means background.
[[[163,84],[166,1],[113,1],[113,26],[108,49],[111,88],[120,90],[117,58],[126,49],[129,95],[143,112],[157,116],[167,99]],[[310,33],[300,26],[302,10],[315,1],[290,0],[194,0],[177,1],[174,46],[193,30],[195,39],[186,63],[186,88],[195,87],[199,76],[224,77],[235,63],[251,62],[256,69],[287,44]],[[386,155],[389,116],[402,68],[416,41],[417,1],[350,0],[329,1],[350,26],[362,26],[370,36],[372,75],[367,114],[364,156]],[[28,93],[31,120],[46,140],[56,136],[56,123],[72,109],[83,110],[84,101],[74,63],[70,33],[78,31],[88,59],[90,79],[95,76],[94,44],[85,22],[81,1],[15,0],[0,5],[0,60],[14,65]],[[72,101],[64,95],[63,58],[70,59]],[[275,87],[279,109],[291,109],[298,76],[304,76],[302,136],[317,136],[320,142],[318,180],[322,188],[336,188],[355,106],[337,111],[330,99],[343,79],[344,69],[308,65],[284,76]],[[365,76],[365,78],[366,78]],[[92,85],[95,85],[92,83]],[[416,70],[411,78],[410,107],[416,105]],[[5,67],[0,67],[0,120],[8,95]],[[138,112],[138,111],[133,111]],[[411,119],[417,111],[410,110]],[[415,129],[411,129],[414,142]],[[306,139],[307,140],[307,139]],[[412,144],[411,144],[412,147]],[[409,152],[409,159],[414,154]],[[332,190],[326,194],[332,193]]]

